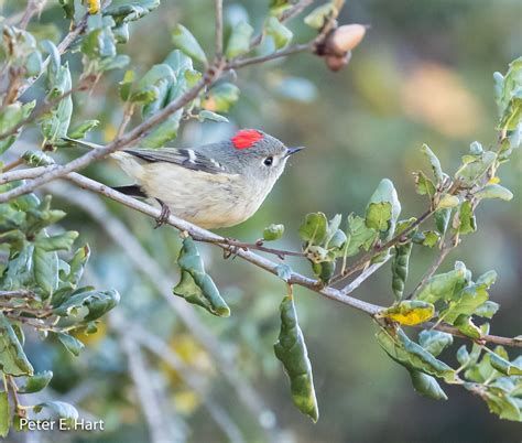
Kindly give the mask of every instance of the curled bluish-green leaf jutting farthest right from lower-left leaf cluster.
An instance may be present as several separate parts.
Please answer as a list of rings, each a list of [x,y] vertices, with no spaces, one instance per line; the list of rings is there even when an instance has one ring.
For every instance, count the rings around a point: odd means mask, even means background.
[[[99,318],[109,312],[120,301],[120,294],[116,290],[87,291],[73,294],[61,305],[53,310],[59,316],[79,317],[83,322]]]

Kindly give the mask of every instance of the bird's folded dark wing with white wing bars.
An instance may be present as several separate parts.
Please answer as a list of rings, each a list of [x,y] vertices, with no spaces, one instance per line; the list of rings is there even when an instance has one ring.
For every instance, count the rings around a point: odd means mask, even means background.
[[[180,166],[219,174],[226,172],[226,169],[217,160],[211,159],[200,152],[184,148],[161,148],[161,149],[126,149],[123,152],[134,155],[146,162],[166,162]]]

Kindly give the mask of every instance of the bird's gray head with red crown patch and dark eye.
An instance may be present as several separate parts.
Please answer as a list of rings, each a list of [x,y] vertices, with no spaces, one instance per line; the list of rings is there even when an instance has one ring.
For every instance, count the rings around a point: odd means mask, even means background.
[[[276,138],[257,129],[242,129],[225,142],[216,160],[231,173],[262,182],[275,183],[284,171],[286,160],[302,148],[287,148]],[[214,151],[216,152],[216,151]]]

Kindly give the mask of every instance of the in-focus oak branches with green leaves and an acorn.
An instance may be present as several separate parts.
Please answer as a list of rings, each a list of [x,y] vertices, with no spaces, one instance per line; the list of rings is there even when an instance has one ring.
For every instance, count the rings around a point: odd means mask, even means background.
[[[141,78],[137,78],[133,71],[121,76],[119,95],[123,101],[123,117],[115,139],[104,148],[57,164],[51,153],[70,148],[63,138],[84,139],[98,125],[97,120],[84,120],[69,128],[75,111],[72,96],[86,87],[95,88],[107,71],[128,64],[129,57],[118,54],[117,43],[127,42],[130,23],[153,11],[159,1],[101,10],[99,2],[87,1],[88,10],[78,7],[76,11],[76,2],[62,2],[72,26],[57,45],[48,41],[37,42],[24,30],[22,24],[35,15],[31,10],[33,3],[36,2],[29,2],[23,22],[18,28],[6,24],[3,33],[3,72],[8,73],[9,82],[0,109],[0,152],[8,152],[15,141],[23,139],[24,130],[35,122],[40,125],[42,149],[6,161],[0,175],[0,339],[3,343],[0,369],[4,380],[3,390],[0,387],[0,435],[7,434],[13,419],[17,423],[30,413],[40,417],[46,410],[65,419],[77,415],[74,408],[63,402],[37,402],[34,406],[21,402],[19,393],[39,391],[52,377],[50,371],[33,374],[24,354],[22,326],[37,331],[44,338],[62,342],[77,355],[81,348],[81,336],[78,338],[77,332],[94,332],[98,318],[119,300],[116,291],[79,285],[89,256],[88,247],[72,251],[77,237],[74,231],[50,235],[47,228],[56,225],[65,214],[52,209],[48,197],[39,199],[32,192],[51,180],[63,177],[157,218],[157,208],[74,171],[137,142],[148,148],[163,147],[176,138],[183,120],[227,121],[222,114],[238,100],[239,88],[229,80],[227,82],[221,80],[224,73],[305,51],[324,57],[327,66],[337,71],[347,63],[349,51],[363,34],[360,28],[337,26],[336,18],[342,1],[334,0],[305,18],[305,22],[317,30],[317,36],[307,43],[292,44],[293,33],[284,23],[312,1],[272,1],[267,21],[257,36],[252,36],[252,28],[244,22],[230,30],[230,37],[224,45],[221,2],[216,1],[214,60],[208,60],[186,28],[177,25],[172,34],[175,48],[163,63],[154,65]],[[255,53],[265,39],[271,39],[273,51]],[[79,48],[83,62],[76,87],[67,62],[62,60],[73,43]],[[23,98],[23,91],[39,77],[47,82],[46,97],[35,106],[20,97]],[[293,401],[314,421],[318,418],[318,407],[312,364],[295,310],[297,287],[369,314],[376,322],[377,343],[409,370],[418,392],[445,399],[439,381],[460,385],[483,399],[493,413],[520,421],[522,361],[520,357],[509,356],[504,346],[520,348],[522,341],[520,337],[490,335],[489,325],[483,320],[490,320],[499,309],[489,300],[494,271],[475,278],[459,261],[449,272],[437,273],[437,270],[463,237],[478,229],[475,210],[482,201],[511,199],[511,192],[499,183],[498,171],[520,144],[521,77],[521,60],[510,65],[505,76],[496,74],[501,118],[499,143],[494,149],[487,150],[478,142],[471,143],[461,165],[449,175],[443,171],[435,153],[427,147],[423,148],[432,172],[420,171],[414,175],[416,192],[426,198],[426,210],[417,217],[401,218],[405,210],[401,208],[390,180],[379,184],[365,214],[350,214],[345,220],[340,215],[328,220],[323,213],[308,214],[298,229],[303,247],[296,251],[267,246],[283,236],[282,225],[269,226],[262,238],[248,244],[219,237],[170,216],[167,224],[184,233],[178,258],[181,279],[173,288],[174,294],[211,314],[224,317],[230,314],[226,296],[221,296],[205,270],[197,242],[216,245],[283,280],[282,292],[286,294],[281,303],[281,331],[274,352],[290,377]],[[141,111],[141,120],[138,111]],[[133,122],[135,127],[127,131]],[[425,227],[427,223],[432,226]],[[407,273],[413,248],[429,248],[436,257],[422,280],[412,285],[407,282]],[[253,251],[274,258],[293,256],[307,260],[314,278],[296,273],[289,264]],[[350,295],[387,262],[391,262],[390,306],[379,306]],[[351,281],[342,287],[341,282],[347,279]],[[412,287],[410,292],[405,292],[406,285]],[[194,324],[193,320],[191,322]],[[191,323],[187,321],[187,324]],[[421,328],[420,334],[406,335],[404,329],[407,326]],[[194,334],[196,329],[200,332],[200,325],[194,327]],[[454,337],[468,341],[456,353],[458,367],[438,358],[443,352],[444,356],[449,355]],[[132,357],[129,361],[135,364],[132,343],[126,343]],[[211,348],[207,345],[207,349]],[[219,358],[219,353],[215,354]],[[226,370],[231,369],[228,367]]]

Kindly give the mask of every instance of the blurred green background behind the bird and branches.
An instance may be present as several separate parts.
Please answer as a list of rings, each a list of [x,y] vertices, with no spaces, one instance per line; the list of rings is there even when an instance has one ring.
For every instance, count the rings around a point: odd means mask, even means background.
[[[162,3],[146,19],[131,25],[131,39],[123,51],[132,56],[132,67],[139,73],[172,51],[170,31],[175,23],[189,28],[204,47],[213,47],[210,0]],[[248,13],[259,29],[268,1],[225,1],[225,7],[229,22]],[[331,73],[318,57],[297,54],[241,69],[237,78],[241,97],[230,112],[230,123],[185,122],[173,144],[191,147],[216,141],[237,128],[253,127],[290,145],[307,147],[292,159],[291,168],[258,214],[241,226],[220,233],[226,236],[251,241],[259,238],[264,226],[282,223],[286,235],[280,245],[296,249],[296,230],[306,213],[362,213],[382,177],[395,184],[402,215],[418,215],[426,202],[415,194],[411,173],[421,168],[428,170],[420,153],[423,142],[438,154],[448,172],[455,170],[474,140],[486,145],[496,143],[492,74],[505,72],[508,63],[520,55],[521,20],[519,0],[348,1],[339,21],[369,24],[371,30],[347,68]],[[44,10],[41,22],[47,24],[45,32],[56,40],[67,29],[55,1]],[[313,31],[301,19],[293,20],[290,28],[297,41],[313,37]],[[68,57],[79,69],[79,55]],[[90,95],[75,97],[76,121],[96,118],[102,122],[94,134],[95,141],[110,140],[121,120],[122,107],[115,85],[122,74],[111,73]],[[110,162],[100,162],[88,173],[109,184],[127,180]],[[496,269],[500,278],[491,298],[501,304],[501,310],[493,318],[492,333],[514,336],[521,333],[522,313],[520,154],[501,169],[500,177],[514,192],[513,201],[481,205],[478,233],[464,238],[442,270],[450,269],[457,259],[475,274]],[[313,424],[293,407],[286,377],[273,356],[279,303],[285,292],[281,281],[239,259],[225,261],[219,250],[202,246],[207,270],[233,315],[224,320],[197,307],[189,310],[219,343],[216,352],[233,361],[224,368],[151,284],[146,268],[141,272],[143,269],[137,268],[83,209],[59,197],[55,204],[69,214],[64,225],[79,230],[80,240],[91,246],[87,281],[120,291],[122,301],[116,311],[127,327],[135,325],[162,337],[188,365],[191,374],[200,377],[208,398],[228,412],[246,441],[520,441],[520,424],[497,419],[482,401],[464,389],[445,387],[449,397],[446,402],[417,396],[407,372],[376,343],[374,326],[366,316],[296,289],[320,409],[320,419]],[[104,204],[133,233],[164,277],[175,281],[177,233],[170,228],[154,230],[151,219],[109,202]],[[409,288],[418,281],[433,253],[414,250]],[[306,263],[289,263],[308,272]],[[390,284],[387,266],[355,295],[390,304]],[[86,343],[78,358],[48,342],[35,339],[31,345],[30,357],[37,369],[52,368],[55,372],[54,393],[106,421],[104,433],[61,434],[53,436],[54,441],[149,441],[146,421],[137,406],[135,387],[112,327],[102,325]],[[452,353],[444,356],[453,364]],[[204,398],[160,358],[148,352],[143,357],[150,383],[145,389],[155,390],[162,401],[154,413],[166,420],[165,426],[175,430],[176,439],[227,441],[204,408]],[[261,409],[254,407],[252,411],[238,398],[222,375],[227,370],[233,377],[239,374],[241,383],[253,389],[253,403],[259,400]],[[44,441],[48,437],[31,436]]]

